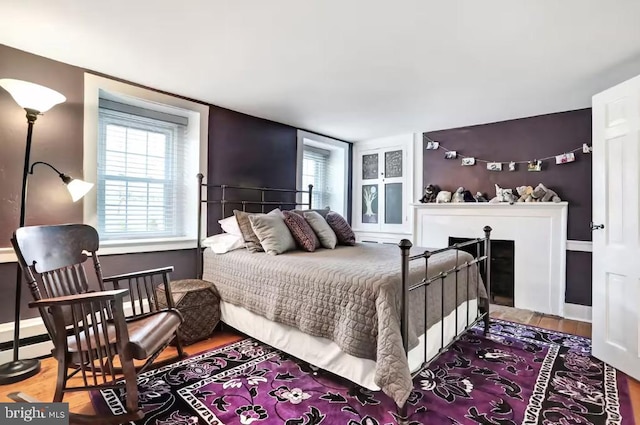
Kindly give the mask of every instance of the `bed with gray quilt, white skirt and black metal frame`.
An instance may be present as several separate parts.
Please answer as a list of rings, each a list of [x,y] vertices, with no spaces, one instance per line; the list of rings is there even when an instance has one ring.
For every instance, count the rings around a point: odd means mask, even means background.
[[[201,189],[212,186],[200,183]],[[201,203],[220,203],[224,216],[228,189],[222,199]],[[243,209],[250,204],[234,202]],[[202,278],[220,292],[224,323],[363,387],[382,389],[402,407],[412,373],[479,320],[487,329],[490,270],[487,264],[483,281],[479,266],[490,255],[491,229],[484,231],[485,238],[439,250],[408,240],[277,256],[204,249]],[[461,250],[471,244],[484,245],[485,254],[474,258]]]

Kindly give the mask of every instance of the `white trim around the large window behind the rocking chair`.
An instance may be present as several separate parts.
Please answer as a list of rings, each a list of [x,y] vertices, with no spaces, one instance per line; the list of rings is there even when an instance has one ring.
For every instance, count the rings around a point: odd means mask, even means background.
[[[138,239],[138,240],[121,240],[121,241],[104,241],[100,243],[100,254],[125,254],[134,252],[149,251],[169,251],[176,249],[189,249],[196,247],[197,223],[195,212],[197,211],[198,179],[196,174],[201,172],[206,174],[207,171],[207,148],[209,144],[209,106],[196,103],[190,100],[181,99],[179,97],[170,96],[153,90],[136,87],[127,83],[110,80],[108,78],[99,77],[97,75],[84,74],[84,154],[83,154],[83,172],[84,179],[90,182],[96,182],[98,178],[97,158],[98,158],[98,102],[100,90],[110,93],[118,93],[120,95],[142,99],[146,102],[154,102],[159,105],[169,105],[176,108],[192,111],[189,117],[191,125],[199,128],[199,171],[193,170],[193,193],[189,193],[189,197],[194,199],[196,210],[193,215],[193,223],[187,223],[189,226],[189,235],[187,238],[159,238],[159,239]],[[187,131],[193,135],[192,131]],[[193,137],[193,136],[192,136]],[[83,200],[84,223],[97,227],[97,192],[90,191]],[[202,206],[202,224],[206,224],[207,210],[206,205]]]

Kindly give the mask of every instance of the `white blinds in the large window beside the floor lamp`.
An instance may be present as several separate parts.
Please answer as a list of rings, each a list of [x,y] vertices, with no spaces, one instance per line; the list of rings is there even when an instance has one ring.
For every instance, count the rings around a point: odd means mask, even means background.
[[[185,236],[187,118],[100,99],[101,239]]]

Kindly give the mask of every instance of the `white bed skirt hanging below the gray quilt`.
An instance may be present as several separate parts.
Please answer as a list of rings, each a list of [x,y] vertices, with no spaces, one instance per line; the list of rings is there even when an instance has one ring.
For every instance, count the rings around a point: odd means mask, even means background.
[[[469,312],[469,323],[478,315],[478,301],[470,300],[461,304],[457,311],[452,311],[444,320],[444,345],[462,332],[467,326],[465,315]],[[356,384],[373,391],[380,390],[374,382],[376,363],[343,352],[333,341],[313,337],[298,329],[273,322],[242,307],[222,301],[220,303],[222,321],[227,325],[295,356],[321,369],[342,376]],[[458,315],[458,329],[455,330],[455,318]],[[440,349],[442,322],[438,322],[427,330],[427,358],[431,359]],[[424,360],[424,335],[420,343],[409,352],[409,367],[415,371]]]

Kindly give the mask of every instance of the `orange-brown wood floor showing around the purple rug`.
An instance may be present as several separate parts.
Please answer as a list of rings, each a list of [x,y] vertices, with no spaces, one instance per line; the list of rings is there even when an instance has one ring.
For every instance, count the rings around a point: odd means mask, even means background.
[[[510,307],[496,306],[493,309],[492,317],[513,322],[538,326],[545,329],[566,332],[570,334],[590,337],[591,324],[566,320],[554,316],[547,316],[533,313],[526,310],[518,310]],[[210,350],[229,342],[237,341],[241,337],[230,332],[216,332],[211,338],[200,341],[186,347],[188,354],[196,354]],[[160,359],[175,355],[173,349],[165,350]],[[42,361],[42,370],[36,376],[11,385],[0,386],[0,402],[11,401],[7,394],[12,392],[23,392],[36,397],[40,401],[51,401],[55,389],[57,368],[55,361],[51,358]],[[640,382],[629,380],[629,392],[631,394],[635,423],[640,425]],[[93,407],[86,393],[68,393],[64,399],[69,403],[69,410],[72,412],[92,414]]]

